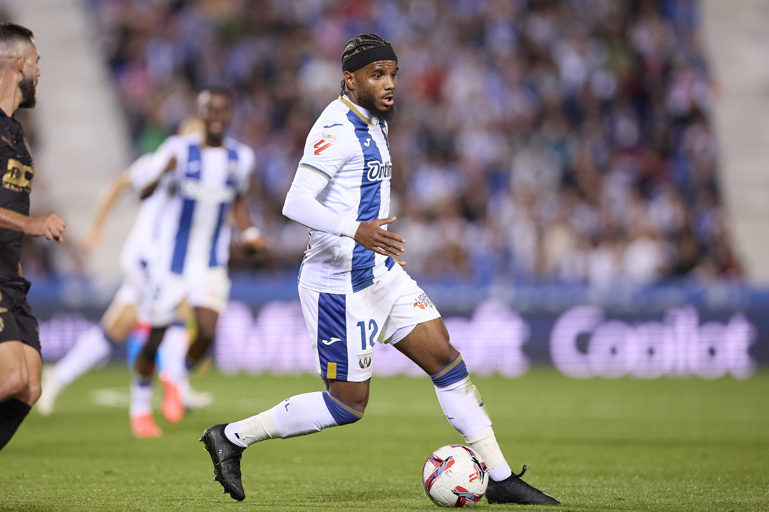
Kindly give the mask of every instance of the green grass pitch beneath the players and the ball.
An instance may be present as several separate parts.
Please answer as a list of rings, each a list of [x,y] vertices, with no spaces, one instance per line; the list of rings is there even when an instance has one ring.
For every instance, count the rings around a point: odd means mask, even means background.
[[[426,378],[375,378],[358,423],[248,448],[238,503],[212,480],[198,437],[319,390],[320,379],[196,377],[214,405],[176,425],[158,415],[165,434],[153,440],[131,438],[128,380],[110,366],[68,388],[51,417],[32,411],[0,451],[0,510],[438,510],[422,464],[462,441]],[[526,480],[560,498],[559,510],[769,510],[769,372],[576,381],[535,368],[474,382],[511,466],[531,463]]]

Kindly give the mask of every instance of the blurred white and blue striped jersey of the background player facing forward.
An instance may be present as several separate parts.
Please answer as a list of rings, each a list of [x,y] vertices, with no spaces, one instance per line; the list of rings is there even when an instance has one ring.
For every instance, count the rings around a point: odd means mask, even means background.
[[[161,180],[171,194],[155,218],[153,272],[188,274],[226,267],[231,229],[225,222],[235,197],[248,190],[254,151],[229,137],[223,147],[209,147],[199,134],[174,135],[155,152],[156,177],[173,157],[175,170]]]

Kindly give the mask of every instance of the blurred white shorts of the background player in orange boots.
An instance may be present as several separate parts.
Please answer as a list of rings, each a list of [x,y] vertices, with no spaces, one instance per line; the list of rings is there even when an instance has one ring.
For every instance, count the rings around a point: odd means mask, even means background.
[[[206,267],[184,274],[173,272],[153,276],[150,296],[143,312],[154,327],[171,325],[177,319],[177,309],[182,301],[193,308],[212,309],[221,312],[230,297],[230,278],[221,266]]]

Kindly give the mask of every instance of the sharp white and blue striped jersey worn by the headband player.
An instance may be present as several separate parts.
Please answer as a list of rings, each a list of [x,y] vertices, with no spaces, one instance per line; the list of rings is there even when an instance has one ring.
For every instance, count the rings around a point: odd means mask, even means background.
[[[299,163],[328,180],[315,198],[345,220],[365,222],[390,212],[392,159],[388,127],[364,108],[338,97],[315,121]],[[386,228],[386,226],[383,226]],[[299,284],[325,293],[351,293],[378,281],[394,260],[348,236],[310,229]]]

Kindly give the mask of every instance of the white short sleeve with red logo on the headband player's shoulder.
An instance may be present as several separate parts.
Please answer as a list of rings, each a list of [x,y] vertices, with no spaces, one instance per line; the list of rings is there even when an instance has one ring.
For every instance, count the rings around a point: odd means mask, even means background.
[[[325,124],[328,127],[324,127],[324,124],[318,122],[312,127],[299,167],[315,171],[331,180],[352,157],[350,144],[345,144],[345,140],[349,138],[350,127],[333,122]]]

